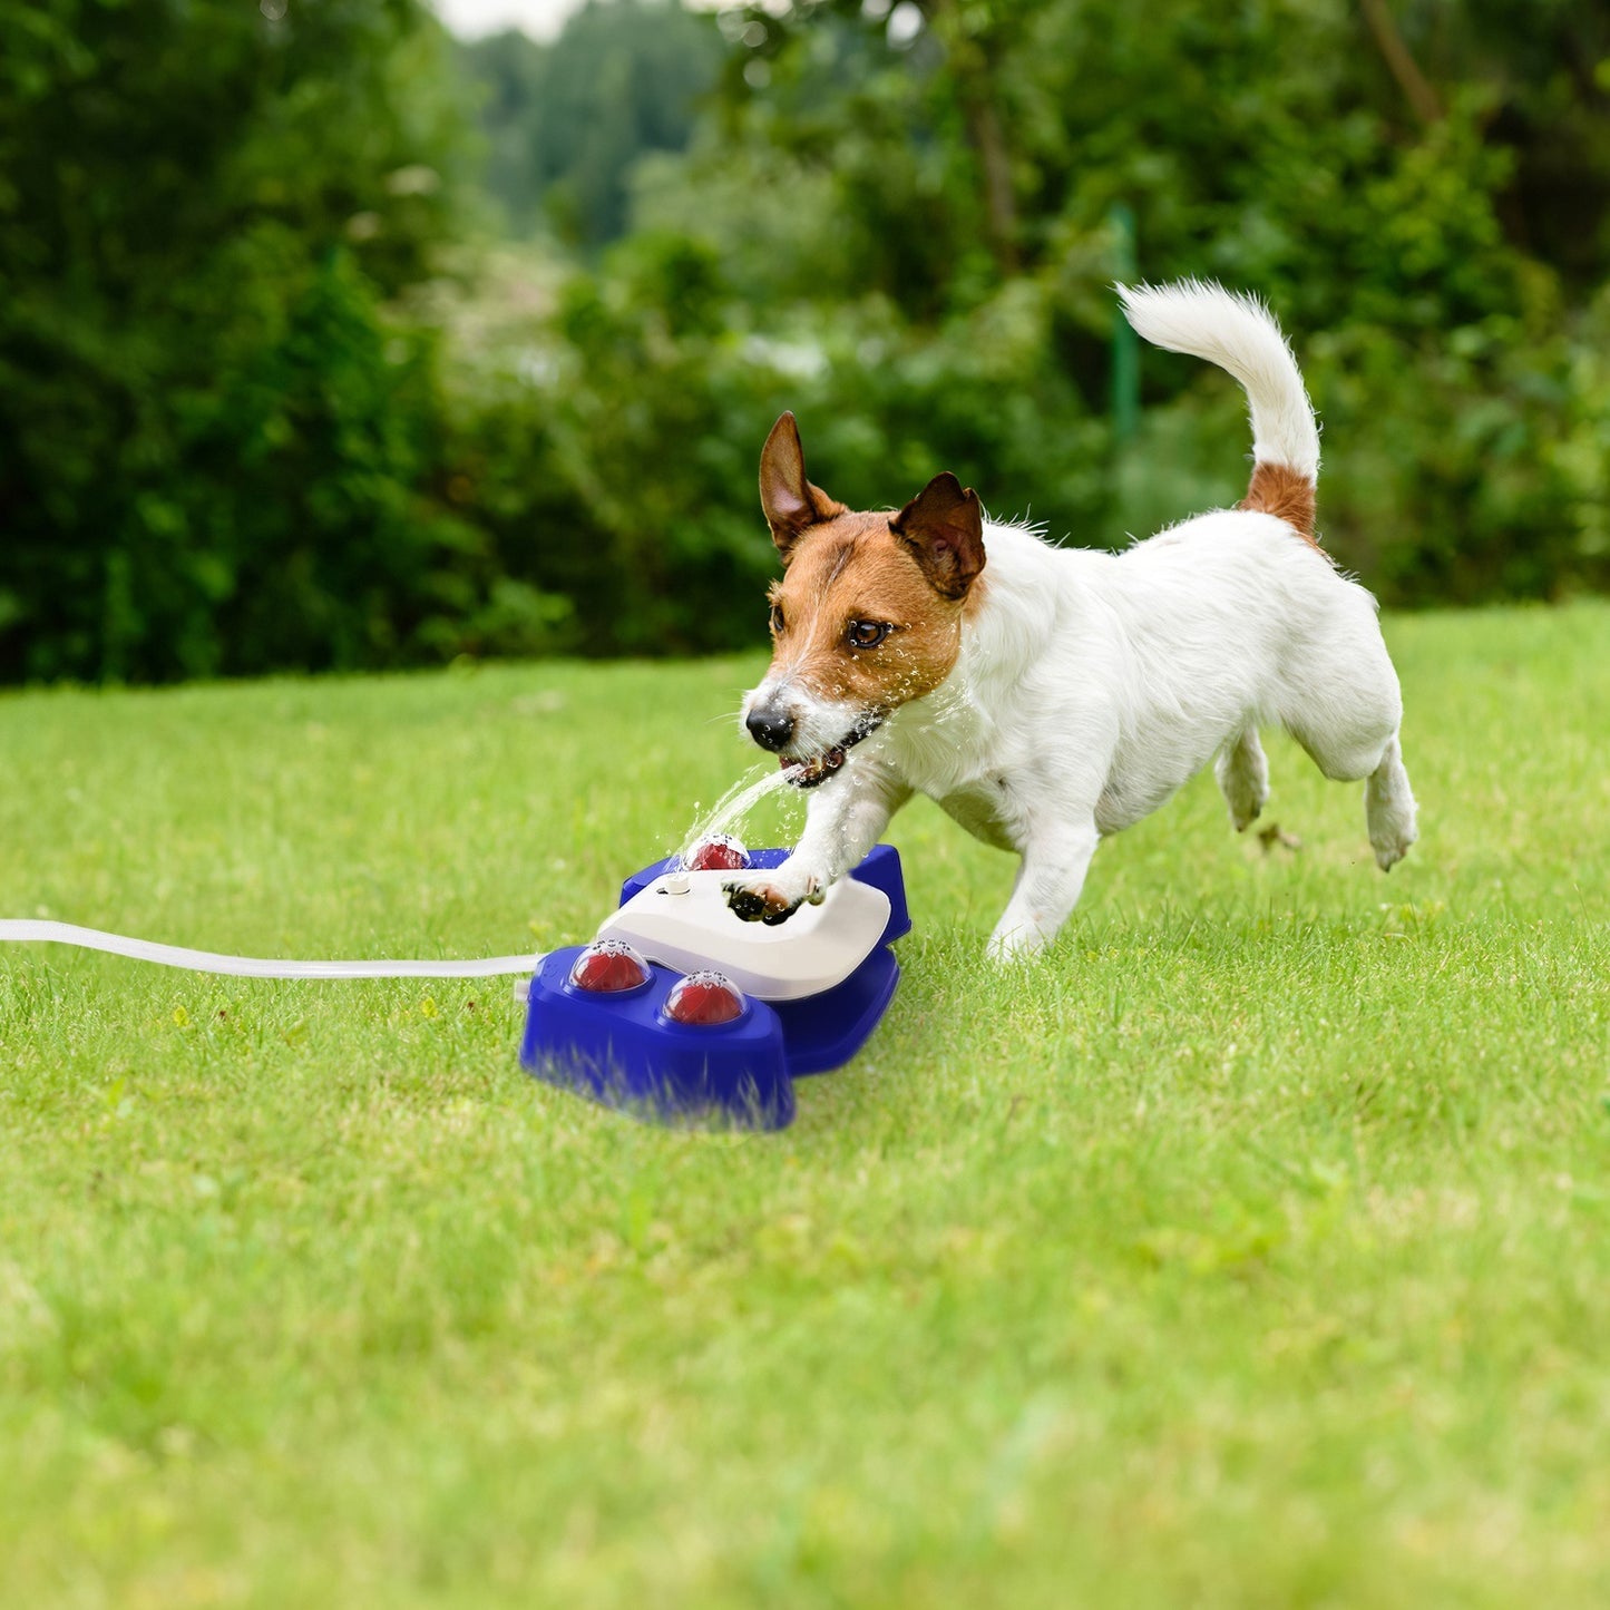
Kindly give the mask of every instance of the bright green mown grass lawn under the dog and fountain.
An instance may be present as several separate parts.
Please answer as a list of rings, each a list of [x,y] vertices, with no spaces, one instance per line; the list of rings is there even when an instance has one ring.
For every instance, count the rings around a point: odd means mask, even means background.
[[[919,805],[771,1137],[528,1080],[506,982],[0,953],[18,1605],[1610,1602],[1610,609],[1389,621],[1423,837],[1270,745],[1043,966]],[[583,937],[750,662],[0,699],[0,913]]]

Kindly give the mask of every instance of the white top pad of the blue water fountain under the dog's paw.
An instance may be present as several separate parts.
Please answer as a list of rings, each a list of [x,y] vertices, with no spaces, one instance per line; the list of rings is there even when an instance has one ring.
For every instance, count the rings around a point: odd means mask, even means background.
[[[623,939],[650,961],[679,972],[715,968],[744,993],[795,1001],[842,984],[889,926],[881,889],[840,877],[821,905],[802,905],[786,923],[744,923],[728,910],[721,886],[742,873],[683,873],[686,894],[657,877],[605,918],[599,939]]]

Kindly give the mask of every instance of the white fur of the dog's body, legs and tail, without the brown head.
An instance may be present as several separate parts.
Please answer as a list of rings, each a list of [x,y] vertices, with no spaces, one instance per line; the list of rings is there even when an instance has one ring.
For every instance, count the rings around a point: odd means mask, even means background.
[[[1312,409],[1259,303],[1196,282],[1121,295],[1143,335],[1241,380],[1259,459],[1314,473]],[[1402,858],[1415,803],[1375,601],[1283,520],[1204,514],[1122,554],[1051,547],[995,522],[984,538],[984,592],[955,670],[811,794],[794,855],[763,874],[776,897],[797,903],[844,876],[923,792],[1022,855],[990,952],[1032,953],[1072,911],[1100,839],[1154,811],[1216,753],[1245,828],[1267,795],[1257,728],[1270,721],[1325,776],[1368,779],[1377,861]],[[834,737],[853,718],[811,715],[813,733]]]

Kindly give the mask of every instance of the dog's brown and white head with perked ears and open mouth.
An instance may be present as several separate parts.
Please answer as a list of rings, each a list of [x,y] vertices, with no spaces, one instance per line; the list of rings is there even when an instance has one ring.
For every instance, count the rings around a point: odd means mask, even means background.
[[[898,514],[845,509],[805,478],[792,414],[762,449],[760,502],[782,580],[771,588],[771,668],[744,700],[744,724],[815,787],[950,675],[984,570],[984,510],[948,472]]]

